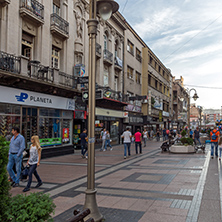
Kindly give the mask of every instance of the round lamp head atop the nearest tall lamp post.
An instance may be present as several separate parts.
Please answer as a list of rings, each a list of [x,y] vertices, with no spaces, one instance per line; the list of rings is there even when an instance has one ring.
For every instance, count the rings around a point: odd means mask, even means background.
[[[97,11],[103,20],[108,20],[112,13],[119,9],[119,4],[114,0],[97,0]]]

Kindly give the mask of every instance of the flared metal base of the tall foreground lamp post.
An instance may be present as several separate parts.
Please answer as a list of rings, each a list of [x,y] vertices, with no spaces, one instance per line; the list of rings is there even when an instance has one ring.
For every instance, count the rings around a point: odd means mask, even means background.
[[[101,222],[103,221],[104,217],[103,215],[99,212],[97,202],[96,202],[96,189],[86,189],[85,191],[85,205],[84,209],[89,208],[90,209],[90,214],[86,217],[86,219],[89,219],[92,217],[95,222]]]

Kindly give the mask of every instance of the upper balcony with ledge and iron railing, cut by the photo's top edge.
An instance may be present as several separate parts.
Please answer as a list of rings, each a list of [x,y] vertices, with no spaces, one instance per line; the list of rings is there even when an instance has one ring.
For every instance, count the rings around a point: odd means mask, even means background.
[[[38,26],[44,24],[44,6],[36,0],[20,0],[20,15]]]

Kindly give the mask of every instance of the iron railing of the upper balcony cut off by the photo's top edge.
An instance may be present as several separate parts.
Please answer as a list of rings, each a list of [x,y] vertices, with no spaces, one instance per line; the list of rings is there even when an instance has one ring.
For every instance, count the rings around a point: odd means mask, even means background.
[[[44,19],[44,6],[36,0],[21,0],[20,8],[26,8],[40,19]]]

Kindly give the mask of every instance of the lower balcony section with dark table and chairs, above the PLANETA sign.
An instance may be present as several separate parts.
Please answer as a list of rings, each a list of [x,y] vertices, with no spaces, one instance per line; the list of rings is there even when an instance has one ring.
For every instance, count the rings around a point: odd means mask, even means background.
[[[45,82],[54,82],[54,73],[48,66],[43,66],[39,61],[32,60],[28,64],[28,76]]]

